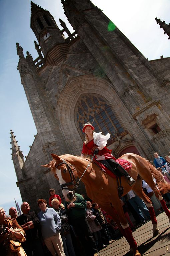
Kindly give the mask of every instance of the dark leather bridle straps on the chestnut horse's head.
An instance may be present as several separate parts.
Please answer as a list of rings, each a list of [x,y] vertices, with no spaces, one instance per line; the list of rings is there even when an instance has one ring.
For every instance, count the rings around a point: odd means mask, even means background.
[[[66,161],[64,161],[63,159],[61,159],[63,162],[61,162],[60,164],[58,164],[55,168],[57,168],[59,165],[61,164],[66,164],[66,167],[67,167],[67,170],[69,171],[69,174],[70,174],[70,178],[71,178],[71,182],[67,182],[67,183],[64,183],[64,184],[61,184],[61,189],[68,189],[66,188],[66,186],[69,186],[69,185],[73,185],[74,186],[74,189],[69,189],[71,191],[73,191],[75,193],[75,189],[78,187],[78,183],[74,177],[74,174],[73,174],[73,171],[72,169],[70,168],[70,166],[73,167],[73,169],[76,171],[76,168],[74,167],[74,165],[71,165],[71,164],[68,164]]]

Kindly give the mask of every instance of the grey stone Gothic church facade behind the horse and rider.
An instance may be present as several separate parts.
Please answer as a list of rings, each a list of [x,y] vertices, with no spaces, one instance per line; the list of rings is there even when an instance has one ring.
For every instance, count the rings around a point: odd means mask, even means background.
[[[34,209],[39,198],[48,200],[49,188],[61,195],[58,181],[41,165],[51,153],[80,155],[87,120],[96,132],[111,134],[107,145],[116,157],[131,152],[153,160],[155,151],[170,151],[170,58],[148,61],[90,0],[62,4],[73,34],[31,2],[38,58],[29,52],[24,57],[17,44],[37,135],[24,161],[11,130],[11,155],[22,199]]]

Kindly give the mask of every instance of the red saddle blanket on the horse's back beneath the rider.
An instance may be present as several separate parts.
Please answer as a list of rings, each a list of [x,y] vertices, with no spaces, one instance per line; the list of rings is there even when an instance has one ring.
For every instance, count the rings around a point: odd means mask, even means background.
[[[105,165],[103,165],[101,162],[93,160],[95,164],[97,164],[102,171],[106,172],[108,175],[110,175],[113,178],[116,178],[116,175],[114,175],[114,173],[112,173],[109,169],[106,168]],[[127,172],[131,169],[132,164],[130,162],[128,162],[125,159],[116,159],[115,160],[117,163],[119,163]]]

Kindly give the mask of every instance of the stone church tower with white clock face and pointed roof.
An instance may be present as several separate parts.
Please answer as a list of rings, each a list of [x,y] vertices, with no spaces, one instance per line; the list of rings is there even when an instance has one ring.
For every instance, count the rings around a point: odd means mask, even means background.
[[[64,43],[64,35],[53,16],[31,1],[31,28],[39,42],[44,56],[56,44]]]

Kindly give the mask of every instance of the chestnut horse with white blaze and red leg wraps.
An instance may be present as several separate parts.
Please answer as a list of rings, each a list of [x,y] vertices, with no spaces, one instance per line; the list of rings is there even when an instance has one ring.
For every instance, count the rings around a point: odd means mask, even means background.
[[[103,172],[96,164],[90,163],[89,159],[72,155],[57,156],[51,154],[51,156],[53,157],[53,160],[43,166],[51,168],[54,176],[59,180],[64,199],[68,202],[75,201],[75,188],[78,186],[81,179],[85,184],[88,197],[97,202],[100,207],[104,209],[116,222],[118,228],[129,243],[133,256],[141,256],[137,250],[136,241],[133,238],[132,231],[123,212],[118,196],[118,185],[116,179],[110,177],[106,172]],[[170,184],[164,180],[161,173],[157,171],[149,161],[141,156],[129,153],[124,154],[120,159],[126,159],[132,164],[129,174],[136,180],[135,184],[130,187],[126,178],[123,176],[121,177],[122,186],[124,187],[123,195],[133,189],[133,191],[143,199],[150,212],[153,224],[153,236],[157,236],[159,234],[159,230],[157,229],[157,220],[152,202],[143,192],[142,179],[148,183],[148,185],[153,189],[156,197],[160,200],[162,207],[169,218],[169,222],[170,211],[168,210],[160,191],[163,190],[164,193],[167,192],[170,189]],[[90,165],[87,168],[89,163]],[[84,172],[86,168],[87,170]],[[79,177],[78,182],[76,181],[77,177]],[[159,190],[153,181],[153,177],[155,177],[157,181]],[[116,211],[111,207],[111,203],[114,205]]]

